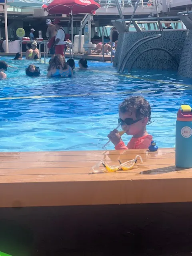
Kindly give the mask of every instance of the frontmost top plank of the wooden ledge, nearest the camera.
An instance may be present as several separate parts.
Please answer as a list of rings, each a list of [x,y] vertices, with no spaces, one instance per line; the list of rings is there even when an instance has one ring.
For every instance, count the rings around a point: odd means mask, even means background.
[[[158,167],[158,168],[156,168]],[[178,179],[178,178],[192,178],[191,169],[179,170],[172,165],[161,166],[138,166],[130,171],[120,171],[114,173],[99,173],[90,174],[90,169],[86,168],[86,173],[70,173],[70,172],[58,172],[48,173],[39,172],[36,169],[34,174],[28,174],[28,169],[24,169],[25,174],[5,174],[0,176],[0,183],[51,183],[51,182],[92,182],[92,181],[120,181],[120,180],[161,180],[161,179]],[[58,169],[56,169],[58,170]],[[62,169],[63,170],[63,169]],[[146,173],[145,173],[146,172]]]

